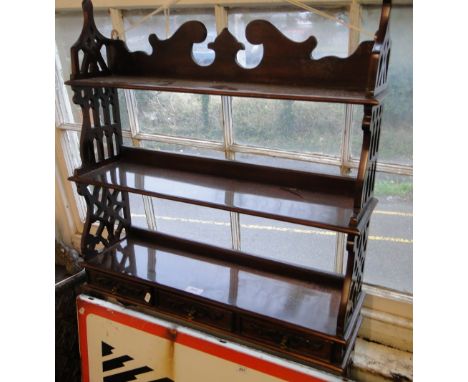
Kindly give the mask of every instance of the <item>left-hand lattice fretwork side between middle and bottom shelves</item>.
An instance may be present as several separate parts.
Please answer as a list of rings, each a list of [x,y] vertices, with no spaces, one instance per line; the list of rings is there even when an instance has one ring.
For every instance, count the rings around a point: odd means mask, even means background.
[[[81,239],[85,257],[97,254],[123,238],[130,226],[130,209],[126,192],[78,184],[78,193],[87,204],[86,221]],[[97,223],[96,230],[93,224]]]

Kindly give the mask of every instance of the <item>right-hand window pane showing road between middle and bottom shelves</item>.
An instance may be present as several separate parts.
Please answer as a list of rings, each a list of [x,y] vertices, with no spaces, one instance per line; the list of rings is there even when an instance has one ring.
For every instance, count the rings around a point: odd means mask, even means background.
[[[241,248],[264,258],[334,271],[336,232],[240,215]]]

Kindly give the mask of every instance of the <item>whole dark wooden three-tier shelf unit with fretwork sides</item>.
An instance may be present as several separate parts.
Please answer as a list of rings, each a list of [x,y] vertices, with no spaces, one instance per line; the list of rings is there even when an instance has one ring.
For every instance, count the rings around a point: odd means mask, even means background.
[[[152,54],[130,52],[99,33],[90,0],[71,48],[67,81],[81,106],[82,166],[70,178],[87,203],[81,251],[86,290],[249,346],[346,375],[364,300],[362,276],[387,82],[391,1],[374,41],[347,58],[311,58],[314,37],[297,43],[262,20],[247,39],[263,44],[252,69],[224,29],[208,66],[192,59],[205,26],[150,35]],[[104,56],[103,56],[104,54]],[[356,177],[315,174],[123,146],[117,88],[364,105]],[[333,274],[132,225],[128,193],[303,224],[347,234],[345,272]],[[94,227],[93,227],[94,226]],[[291,248],[293,251],[294,248]]]

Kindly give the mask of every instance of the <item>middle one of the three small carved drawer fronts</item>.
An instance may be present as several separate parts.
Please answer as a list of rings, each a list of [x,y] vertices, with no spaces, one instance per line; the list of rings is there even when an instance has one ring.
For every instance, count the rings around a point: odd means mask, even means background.
[[[158,306],[161,310],[175,314],[188,321],[231,330],[232,313],[170,292],[159,291]]]

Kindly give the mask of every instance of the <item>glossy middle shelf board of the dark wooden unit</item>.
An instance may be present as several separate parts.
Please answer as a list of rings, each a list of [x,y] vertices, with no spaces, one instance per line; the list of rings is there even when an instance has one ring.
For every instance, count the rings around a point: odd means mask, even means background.
[[[70,180],[360,234],[359,224],[350,224],[355,183],[347,177],[125,147],[120,157]]]

